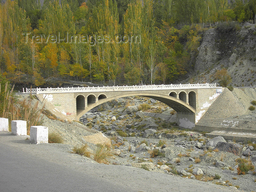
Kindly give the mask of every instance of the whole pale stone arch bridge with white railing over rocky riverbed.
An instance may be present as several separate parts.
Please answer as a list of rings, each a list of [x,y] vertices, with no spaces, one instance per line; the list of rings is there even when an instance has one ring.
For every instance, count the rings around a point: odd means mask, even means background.
[[[79,118],[94,107],[121,97],[141,96],[165,103],[177,112],[177,124],[193,128],[208,107],[222,92],[215,84],[170,84],[113,87],[57,87],[26,89],[46,99],[54,109],[71,120]]]

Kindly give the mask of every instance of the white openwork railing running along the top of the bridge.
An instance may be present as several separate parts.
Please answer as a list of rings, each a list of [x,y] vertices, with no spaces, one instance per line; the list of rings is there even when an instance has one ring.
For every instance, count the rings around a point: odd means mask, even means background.
[[[26,93],[78,93],[78,92],[101,92],[101,91],[145,91],[145,90],[170,90],[170,89],[203,89],[216,87],[216,83],[209,84],[170,84],[170,85],[133,85],[133,86],[103,86],[103,87],[47,87],[27,89]],[[23,92],[24,89],[23,89]]]

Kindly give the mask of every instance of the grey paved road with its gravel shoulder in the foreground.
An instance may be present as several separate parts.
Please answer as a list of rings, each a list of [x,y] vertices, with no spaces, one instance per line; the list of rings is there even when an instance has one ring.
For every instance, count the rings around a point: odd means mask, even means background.
[[[92,163],[63,144],[30,144],[0,132],[0,192],[231,191],[197,180],[143,169]]]

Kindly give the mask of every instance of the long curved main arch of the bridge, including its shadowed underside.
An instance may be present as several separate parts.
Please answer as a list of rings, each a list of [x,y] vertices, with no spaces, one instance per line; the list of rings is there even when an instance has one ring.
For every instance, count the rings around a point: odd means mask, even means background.
[[[173,108],[176,112],[181,113],[195,113],[196,110],[190,106],[188,103],[181,101],[180,99],[171,97],[169,95],[159,94],[159,93],[144,93],[144,92],[138,92],[138,93],[126,93],[126,94],[120,94],[113,97],[101,99],[97,103],[92,103],[90,106],[88,106],[83,112],[77,114],[76,118],[80,118],[84,113],[88,112],[89,110],[95,108],[96,106],[111,101],[113,99],[118,99],[122,97],[130,97],[130,96],[140,96],[140,97],[148,97],[155,99],[157,101],[160,101],[162,103],[165,103],[166,105]]]

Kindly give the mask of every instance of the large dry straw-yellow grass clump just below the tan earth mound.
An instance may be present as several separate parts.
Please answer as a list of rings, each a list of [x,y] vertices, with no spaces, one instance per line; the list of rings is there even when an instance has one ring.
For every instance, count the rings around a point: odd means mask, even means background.
[[[113,156],[112,150],[107,144],[97,144],[97,148],[93,153],[94,161],[98,163],[108,163],[108,158]]]

